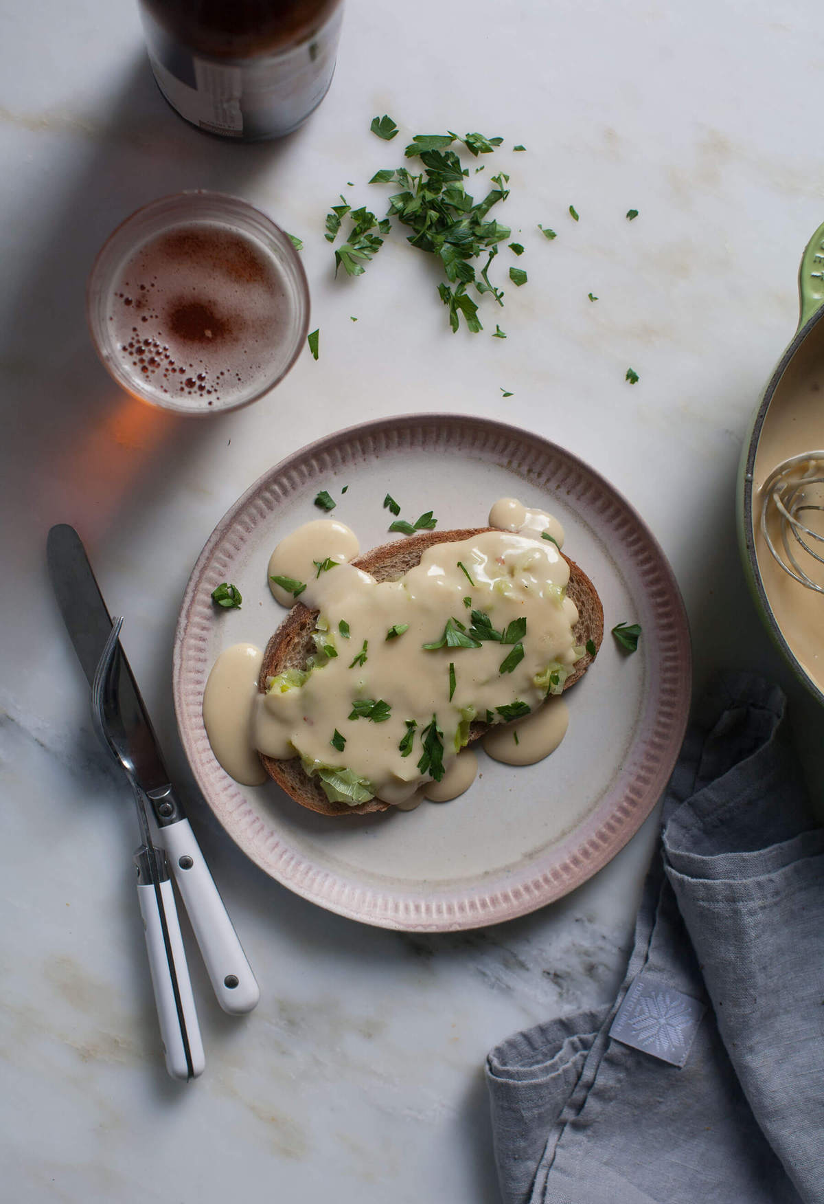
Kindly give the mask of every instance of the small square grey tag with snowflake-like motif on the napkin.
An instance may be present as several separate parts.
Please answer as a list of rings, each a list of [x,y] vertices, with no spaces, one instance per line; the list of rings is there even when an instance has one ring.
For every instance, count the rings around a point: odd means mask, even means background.
[[[706,1004],[692,996],[639,974],[618,1008],[610,1037],[662,1062],[683,1066],[705,1011]]]

